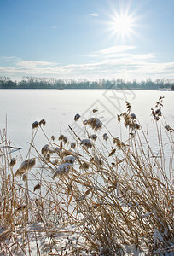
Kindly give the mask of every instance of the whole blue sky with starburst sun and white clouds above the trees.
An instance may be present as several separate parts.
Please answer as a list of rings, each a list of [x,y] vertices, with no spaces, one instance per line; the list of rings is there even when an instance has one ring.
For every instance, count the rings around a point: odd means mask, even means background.
[[[0,0],[0,76],[174,79],[174,0]]]

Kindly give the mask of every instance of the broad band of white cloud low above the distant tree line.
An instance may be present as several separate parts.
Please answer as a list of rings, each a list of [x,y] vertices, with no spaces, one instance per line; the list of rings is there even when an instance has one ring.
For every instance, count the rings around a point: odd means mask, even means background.
[[[172,78],[174,62],[159,62],[153,53],[137,54],[135,46],[113,46],[86,55],[83,63],[61,65],[49,61],[26,61],[18,57],[0,58],[0,75],[47,76],[61,79]]]

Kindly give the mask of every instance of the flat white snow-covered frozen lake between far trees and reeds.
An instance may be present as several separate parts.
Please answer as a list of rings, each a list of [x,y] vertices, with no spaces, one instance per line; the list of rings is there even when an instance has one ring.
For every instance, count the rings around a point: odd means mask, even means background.
[[[28,148],[27,142],[32,137],[32,123],[45,119],[44,131],[50,138],[67,133],[67,125],[71,125],[78,134],[80,127],[73,121],[79,113],[84,119],[97,116],[107,125],[114,137],[122,137],[123,131],[117,124],[117,114],[125,111],[125,101],[132,106],[132,113],[142,123],[153,139],[155,125],[152,122],[151,108],[159,96],[165,96],[162,113],[171,127],[174,125],[174,92],[159,90],[0,90],[0,129],[6,125],[10,140],[17,147]],[[98,112],[92,113],[93,109]],[[148,125],[148,126],[147,126]],[[102,132],[102,131],[101,131]],[[45,137],[38,137],[38,146],[47,143]],[[124,138],[123,138],[124,140]],[[156,142],[154,141],[154,144]],[[155,145],[154,145],[155,146]],[[23,151],[24,152],[24,151]]]

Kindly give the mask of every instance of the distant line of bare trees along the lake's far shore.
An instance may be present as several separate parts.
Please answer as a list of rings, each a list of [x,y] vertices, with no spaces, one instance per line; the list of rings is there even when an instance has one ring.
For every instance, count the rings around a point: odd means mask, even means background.
[[[173,79],[157,79],[152,81],[125,82],[124,79],[101,79],[99,81],[63,80],[54,78],[24,77],[21,81],[12,81],[8,77],[0,77],[0,89],[171,89],[174,90]]]

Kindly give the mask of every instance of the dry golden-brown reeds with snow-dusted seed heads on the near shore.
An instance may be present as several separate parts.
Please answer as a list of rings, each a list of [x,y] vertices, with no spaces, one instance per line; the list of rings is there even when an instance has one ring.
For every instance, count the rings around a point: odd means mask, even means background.
[[[124,139],[113,136],[96,112],[90,119],[75,115],[82,137],[69,126],[69,134],[49,139],[44,127],[33,123],[28,158],[15,172],[10,154],[4,152],[1,158],[1,193],[6,199],[1,202],[0,220],[7,223],[14,243],[25,250],[26,245],[15,238],[16,225],[26,226],[28,234],[28,224],[39,223],[47,246],[34,229],[38,255],[43,247],[56,255],[172,255],[174,142],[162,108],[160,97],[151,109],[155,145],[130,102],[117,115]],[[45,141],[40,149],[34,144],[38,130]],[[62,228],[67,236],[64,247]],[[4,244],[3,249],[7,250]]]

